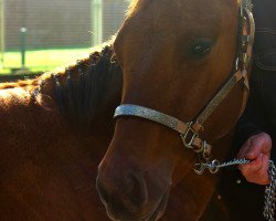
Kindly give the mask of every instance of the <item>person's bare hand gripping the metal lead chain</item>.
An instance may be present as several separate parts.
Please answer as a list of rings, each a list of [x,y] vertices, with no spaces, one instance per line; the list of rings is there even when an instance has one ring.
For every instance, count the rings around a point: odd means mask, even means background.
[[[238,169],[248,182],[268,185],[268,165],[270,159],[272,138],[266,133],[250,137],[241,147],[237,157],[252,160],[247,165],[240,165]]]

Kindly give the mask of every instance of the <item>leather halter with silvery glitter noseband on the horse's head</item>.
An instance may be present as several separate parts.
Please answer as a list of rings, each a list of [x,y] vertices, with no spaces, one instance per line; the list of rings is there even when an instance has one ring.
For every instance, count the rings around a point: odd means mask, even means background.
[[[145,118],[167,126],[179,133],[183,145],[189,149],[193,149],[199,155],[200,164],[195,165],[194,170],[200,175],[203,173],[205,169],[204,165],[210,164],[212,150],[212,146],[199,135],[200,131],[203,130],[204,123],[240,82],[242,82],[245,86],[241,110],[242,114],[245,108],[247,93],[250,91],[247,69],[252,57],[255,23],[251,12],[250,2],[242,2],[240,9],[241,39],[238,45],[240,49],[235,59],[234,74],[226,81],[226,83],[209,102],[204,109],[199,113],[198,117],[193,122],[184,123],[176,117],[169,116],[158,110],[132,104],[123,104],[118,106],[114,114],[115,118],[120,116]],[[217,172],[217,167],[211,167],[210,171],[213,173]]]

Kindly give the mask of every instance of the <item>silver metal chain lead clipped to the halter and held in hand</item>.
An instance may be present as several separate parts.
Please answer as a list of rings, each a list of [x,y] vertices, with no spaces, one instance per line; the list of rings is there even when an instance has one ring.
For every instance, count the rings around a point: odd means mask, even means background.
[[[237,165],[246,165],[251,160],[248,159],[233,159],[227,162],[221,164],[219,160],[213,160],[211,162],[199,162],[194,165],[194,171],[198,175],[202,175],[205,169],[209,169],[211,173],[216,173],[221,168],[237,166]],[[270,183],[265,188],[265,202],[264,202],[264,217],[268,221],[275,221],[275,208],[276,208],[276,167],[272,160],[269,160],[268,166],[268,175],[270,179]]]

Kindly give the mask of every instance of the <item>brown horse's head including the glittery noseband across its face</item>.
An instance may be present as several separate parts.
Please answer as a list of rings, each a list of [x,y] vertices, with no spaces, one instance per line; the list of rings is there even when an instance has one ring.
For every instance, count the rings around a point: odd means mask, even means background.
[[[123,105],[116,109],[115,135],[97,178],[110,219],[158,220],[167,204],[161,220],[200,219],[214,178],[195,177],[195,155],[182,143],[206,160],[211,147],[200,137],[215,144],[233,128],[244,107],[244,85],[236,84],[229,94],[222,85],[233,80],[243,60],[236,57],[244,51],[240,40],[246,24],[238,18],[248,4],[233,0],[132,2],[114,43],[124,72]],[[214,148],[213,155],[223,158],[226,151]]]

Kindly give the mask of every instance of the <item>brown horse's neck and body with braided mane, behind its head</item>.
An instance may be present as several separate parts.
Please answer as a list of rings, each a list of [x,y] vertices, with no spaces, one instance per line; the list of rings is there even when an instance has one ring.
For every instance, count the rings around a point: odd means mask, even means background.
[[[0,220],[109,220],[95,188],[121,95],[113,49],[0,84]]]

